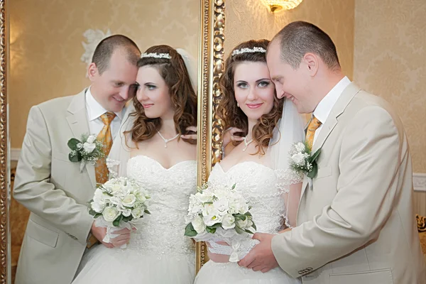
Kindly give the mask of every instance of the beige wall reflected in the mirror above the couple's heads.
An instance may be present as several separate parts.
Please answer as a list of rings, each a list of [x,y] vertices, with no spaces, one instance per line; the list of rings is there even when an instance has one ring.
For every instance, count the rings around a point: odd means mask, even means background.
[[[83,33],[100,29],[132,38],[141,50],[168,44],[198,52],[199,0],[13,0],[9,80],[11,147],[21,148],[29,109],[89,84]]]

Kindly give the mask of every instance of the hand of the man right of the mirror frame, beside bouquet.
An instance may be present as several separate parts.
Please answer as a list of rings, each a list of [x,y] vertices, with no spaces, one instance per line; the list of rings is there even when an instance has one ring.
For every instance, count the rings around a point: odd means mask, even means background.
[[[253,271],[262,271],[263,273],[278,267],[278,262],[272,252],[272,238],[274,235],[256,233],[253,239],[260,241],[250,253],[239,261],[239,266],[251,268]]]

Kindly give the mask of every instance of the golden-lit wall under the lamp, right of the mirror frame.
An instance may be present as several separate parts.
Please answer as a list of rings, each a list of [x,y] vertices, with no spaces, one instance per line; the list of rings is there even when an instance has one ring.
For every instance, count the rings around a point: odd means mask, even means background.
[[[353,78],[354,0],[304,0],[295,9],[279,13],[269,12],[260,0],[227,0],[225,16],[225,56],[245,40],[271,40],[286,24],[308,21],[329,34],[342,69]]]

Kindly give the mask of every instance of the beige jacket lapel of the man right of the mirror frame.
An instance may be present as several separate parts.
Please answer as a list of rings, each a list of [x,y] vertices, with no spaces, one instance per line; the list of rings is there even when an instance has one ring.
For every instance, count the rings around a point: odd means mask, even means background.
[[[336,104],[334,104],[332,111],[330,111],[327,120],[324,122],[320,134],[318,135],[314,145],[312,146],[312,153],[315,153],[315,151],[317,151],[324,145],[328,136],[330,135],[330,133],[332,133],[334,127],[337,125],[339,121],[338,117],[343,114],[344,109],[346,109],[349,102],[354,99],[355,95],[358,94],[360,90],[361,89],[353,82],[344,89],[339,99],[337,99]],[[300,194],[300,200],[302,200],[302,196],[305,193],[307,184],[307,177],[305,176],[302,184],[302,193]]]

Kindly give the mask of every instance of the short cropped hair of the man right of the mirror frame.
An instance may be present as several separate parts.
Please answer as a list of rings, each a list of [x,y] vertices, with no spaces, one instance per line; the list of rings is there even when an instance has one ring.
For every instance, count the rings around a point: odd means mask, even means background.
[[[318,55],[330,70],[340,69],[336,46],[320,28],[304,21],[295,21],[285,26],[271,43],[280,44],[280,58],[297,69],[307,53]]]

